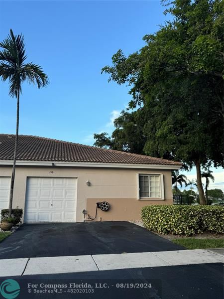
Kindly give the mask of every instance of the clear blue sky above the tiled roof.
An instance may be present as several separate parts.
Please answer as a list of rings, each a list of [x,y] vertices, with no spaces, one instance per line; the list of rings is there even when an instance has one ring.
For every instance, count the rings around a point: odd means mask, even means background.
[[[10,28],[22,32],[27,62],[40,64],[50,80],[41,90],[23,85],[19,133],[88,145],[94,133],[112,133],[131,98],[101,69],[119,48],[125,54],[141,48],[142,37],[167,19],[163,10],[159,0],[0,0],[0,40]],[[0,82],[1,133],[15,132],[15,115],[16,101]],[[215,171],[220,177],[223,170]]]

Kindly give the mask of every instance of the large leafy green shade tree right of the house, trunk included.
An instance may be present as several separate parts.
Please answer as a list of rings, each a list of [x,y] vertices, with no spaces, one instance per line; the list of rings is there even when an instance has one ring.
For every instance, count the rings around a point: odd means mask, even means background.
[[[206,204],[202,168],[223,165],[223,0],[162,1],[173,16],[146,45],[118,50],[110,80],[128,83],[129,108],[144,111],[143,150],[196,166],[200,203]],[[140,108],[139,108],[140,107]]]

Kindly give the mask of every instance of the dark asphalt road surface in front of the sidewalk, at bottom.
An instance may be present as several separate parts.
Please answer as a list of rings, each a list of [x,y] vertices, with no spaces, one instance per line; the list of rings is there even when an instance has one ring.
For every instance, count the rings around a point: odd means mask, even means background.
[[[2,280],[11,279],[3,277]],[[20,285],[20,297],[26,299],[71,299],[77,298],[71,293],[27,293],[27,283],[32,284],[68,284],[88,283],[95,286],[95,283],[108,283],[110,286],[121,283],[145,284],[152,283],[151,289],[137,288],[100,288],[94,290],[93,294],[82,294],[82,299],[149,299],[157,298],[162,293],[162,299],[223,299],[223,265],[201,264],[184,265],[155,268],[135,268],[109,271],[93,271],[68,274],[45,274],[25,275],[13,277]],[[161,288],[161,287],[162,288]],[[158,289],[159,287],[159,289]],[[40,289],[40,288],[37,288]],[[153,296],[154,291],[154,296]],[[151,296],[149,296],[149,294]]]

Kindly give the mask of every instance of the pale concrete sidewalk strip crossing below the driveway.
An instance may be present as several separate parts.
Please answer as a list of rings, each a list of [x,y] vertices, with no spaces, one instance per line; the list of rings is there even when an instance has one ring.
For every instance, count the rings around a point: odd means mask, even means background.
[[[1,277],[223,263],[224,249],[195,249],[0,260]]]

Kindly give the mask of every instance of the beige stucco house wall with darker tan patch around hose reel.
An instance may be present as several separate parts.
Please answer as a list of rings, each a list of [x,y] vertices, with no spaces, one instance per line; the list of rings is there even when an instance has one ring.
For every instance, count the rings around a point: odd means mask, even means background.
[[[138,200],[138,173],[160,173],[164,177],[165,200]],[[0,176],[10,176],[10,166],[0,166]],[[122,169],[17,166],[14,183],[13,207],[24,209],[27,177],[74,177],[77,178],[76,221],[84,221],[83,209],[95,216],[96,202],[108,201],[111,209],[103,212],[98,209],[96,221],[140,220],[140,210],[149,204],[171,204],[171,170]],[[86,181],[91,182],[87,186]]]

